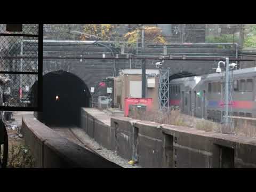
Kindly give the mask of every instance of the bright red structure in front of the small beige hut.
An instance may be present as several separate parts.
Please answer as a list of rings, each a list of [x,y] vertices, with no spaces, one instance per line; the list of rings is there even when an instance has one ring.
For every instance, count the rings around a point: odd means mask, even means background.
[[[124,116],[127,117],[129,115],[129,106],[130,105],[146,105],[147,111],[150,111],[153,106],[152,98],[125,98],[124,99]]]

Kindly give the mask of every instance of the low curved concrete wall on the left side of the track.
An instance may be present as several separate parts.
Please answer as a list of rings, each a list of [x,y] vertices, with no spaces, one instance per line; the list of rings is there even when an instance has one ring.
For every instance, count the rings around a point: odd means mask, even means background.
[[[22,132],[35,158],[35,167],[120,167],[61,137],[33,115],[22,116]]]

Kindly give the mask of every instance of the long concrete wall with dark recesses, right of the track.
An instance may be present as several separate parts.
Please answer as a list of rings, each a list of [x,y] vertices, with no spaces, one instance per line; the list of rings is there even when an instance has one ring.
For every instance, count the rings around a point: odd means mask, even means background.
[[[83,129],[94,130],[97,142],[127,160],[138,160],[142,167],[256,167],[254,138],[128,117],[110,119],[92,108],[82,108],[82,113]]]

